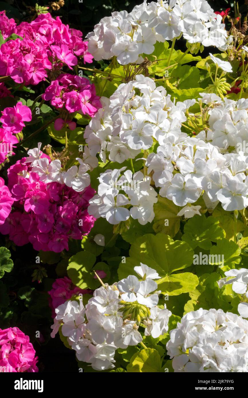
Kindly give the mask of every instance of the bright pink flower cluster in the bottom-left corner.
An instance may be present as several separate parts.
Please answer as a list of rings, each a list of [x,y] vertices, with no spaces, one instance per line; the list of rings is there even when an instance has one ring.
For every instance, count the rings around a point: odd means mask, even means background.
[[[38,372],[33,344],[18,328],[0,329],[0,366],[8,372]],[[8,368],[7,368],[8,367]]]

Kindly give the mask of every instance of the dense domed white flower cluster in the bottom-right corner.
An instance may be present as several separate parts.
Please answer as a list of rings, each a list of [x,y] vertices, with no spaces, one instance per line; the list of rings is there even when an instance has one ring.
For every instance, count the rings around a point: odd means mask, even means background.
[[[248,372],[248,321],[223,310],[188,312],[170,331],[175,372]]]

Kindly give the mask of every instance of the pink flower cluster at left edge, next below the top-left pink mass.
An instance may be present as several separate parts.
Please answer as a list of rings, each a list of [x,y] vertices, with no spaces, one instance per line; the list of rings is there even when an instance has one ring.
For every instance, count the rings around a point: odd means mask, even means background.
[[[24,122],[31,121],[31,118],[31,110],[26,105],[22,105],[21,102],[2,111],[0,117],[2,123],[2,128],[0,128],[0,163],[3,163],[9,154],[13,154],[14,144],[19,142],[15,134],[20,133],[25,127]]]

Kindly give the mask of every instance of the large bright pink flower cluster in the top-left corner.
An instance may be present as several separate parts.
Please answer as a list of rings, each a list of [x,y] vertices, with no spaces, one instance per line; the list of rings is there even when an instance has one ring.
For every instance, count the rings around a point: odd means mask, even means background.
[[[0,12],[0,30],[4,39],[12,33],[22,38],[8,40],[0,49],[0,75],[10,76],[16,83],[38,84],[45,80],[48,70],[58,72],[64,64],[72,69],[77,57],[84,57],[84,63],[93,59],[82,32],[70,29],[49,13],[16,25]]]

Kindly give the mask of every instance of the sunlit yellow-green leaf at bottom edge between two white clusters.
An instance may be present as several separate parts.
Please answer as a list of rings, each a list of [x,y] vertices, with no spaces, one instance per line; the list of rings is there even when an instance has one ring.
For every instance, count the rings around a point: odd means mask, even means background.
[[[127,372],[161,372],[160,355],[156,349],[146,348],[133,355],[127,365]]]

